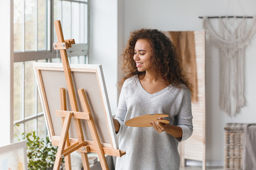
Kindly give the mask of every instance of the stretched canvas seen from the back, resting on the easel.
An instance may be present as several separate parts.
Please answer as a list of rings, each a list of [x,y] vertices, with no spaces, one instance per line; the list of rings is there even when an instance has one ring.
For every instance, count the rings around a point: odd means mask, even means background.
[[[72,110],[68,97],[63,64],[35,62],[33,63],[33,67],[50,140],[53,145],[58,146],[62,123],[61,118],[56,115],[55,111],[61,110],[60,88],[66,89],[67,110]],[[84,89],[102,147],[118,149],[102,66],[100,64],[70,64],[70,71],[73,77],[79,111],[82,112],[82,105],[78,97],[78,89]],[[90,128],[87,126],[87,120],[81,120],[81,125],[85,141],[88,145],[93,146],[94,144],[90,134]],[[70,144],[78,142],[73,120],[70,123],[69,137]]]

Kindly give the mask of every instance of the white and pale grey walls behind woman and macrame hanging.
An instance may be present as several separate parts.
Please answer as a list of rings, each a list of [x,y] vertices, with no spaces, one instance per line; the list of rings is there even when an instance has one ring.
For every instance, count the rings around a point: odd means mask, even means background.
[[[103,65],[112,112],[117,106],[117,58],[133,30],[140,28],[203,30],[202,20],[198,16],[256,14],[256,1],[240,0],[239,2],[240,5],[238,1],[229,3],[228,0],[92,0],[90,61]],[[124,8],[123,12],[120,8]],[[124,20],[120,15],[124,15]],[[247,47],[245,57],[246,106],[237,117],[230,118],[220,111],[218,106],[218,49],[208,40],[206,41],[206,159],[208,162],[223,164],[223,128],[226,123],[256,122],[255,47],[256,35]]]

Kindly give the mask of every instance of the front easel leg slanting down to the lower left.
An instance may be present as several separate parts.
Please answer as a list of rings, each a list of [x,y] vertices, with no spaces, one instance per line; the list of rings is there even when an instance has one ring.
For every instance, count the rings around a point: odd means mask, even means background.
[[[65,117],[65,121],[63,123],[63,130],[61,131],[61,136],[60,136],[60,143],[58,145],[58,152],[56,154],[55,158],[55,164],[54,164],[54,170],[59,170],[60,169],[60,162],[61,162],[61,157],[60,155],[63,153],[64,145],[65,145],[65,139],[67,138],[68,135],[68,129],[70,127],[70,122],[72,118],[72,113],[68,114]]]

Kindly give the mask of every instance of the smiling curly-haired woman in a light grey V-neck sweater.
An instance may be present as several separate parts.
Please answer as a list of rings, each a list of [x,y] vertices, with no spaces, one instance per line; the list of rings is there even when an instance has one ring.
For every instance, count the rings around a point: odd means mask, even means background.
[[[116,169],[179,169],[178,142],[192,135],[191,85],[183,75],[171,40],[159,30],[132,33],[122,55],[121,81],[114,128],[119,149]],[[124,123],[140,115],[164,113],[169,124],[149,128]]]

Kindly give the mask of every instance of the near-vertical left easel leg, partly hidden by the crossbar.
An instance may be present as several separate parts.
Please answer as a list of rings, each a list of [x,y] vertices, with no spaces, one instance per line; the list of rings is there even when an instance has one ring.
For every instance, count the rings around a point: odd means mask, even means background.
[[[65,88],[60,88],[60,109],[62,111],[67,111],[67,102],[65,98]],[[64,124],[65,118],[61,118]],[[67,140],[65,142],[65,149],[70,146],[69,135],[67,134]],[[71,169],[70,154],[65,157],[65,169]]]

